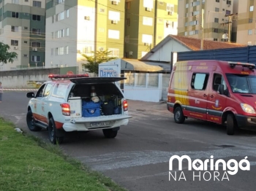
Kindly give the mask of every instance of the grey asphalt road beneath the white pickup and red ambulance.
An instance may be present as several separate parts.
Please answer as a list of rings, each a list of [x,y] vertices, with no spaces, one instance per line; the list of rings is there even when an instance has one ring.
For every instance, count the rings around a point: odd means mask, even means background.
[[[32,133],[26,127],[28,101],[24,92],[6,92],[0,104],[0,115]],[[186,120],[178,125],[166,111],[165,104],[128,103],[129,114],[133,117],[128,126],[119,130],[116,139],[105,139],[101,130],[70,133],[61,145],[64,152],[102,171],[128,190],[255,190],[256,133],[240,130],[235,136],[227,136],[225,127],[198,120]],[[46,131],[32,134],[48,139]],[[169,159],[173,155],[188,155],[192,160],[202,161],[213,155],[214,161],[226,162],[230,159],[239,162],[247,156],[250,169],[238,168],[235,175],[227,173],[233,168],[229,165],[227,171],[220,167],[217,174],[209,167],[208,172],[188,171],[184,160],[182,174],[178,171],[178,162],[173,161],[170,173],[175,176],[176,171],[175,181],[169,173]]]

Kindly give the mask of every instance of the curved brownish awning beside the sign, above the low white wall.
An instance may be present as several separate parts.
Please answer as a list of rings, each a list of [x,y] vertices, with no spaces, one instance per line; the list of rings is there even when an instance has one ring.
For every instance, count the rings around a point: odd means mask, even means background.
[[[133,71],[163,71],[160,66],[154,66],[147,64],[143,61],[121,59],[121,70],[133,70]]]

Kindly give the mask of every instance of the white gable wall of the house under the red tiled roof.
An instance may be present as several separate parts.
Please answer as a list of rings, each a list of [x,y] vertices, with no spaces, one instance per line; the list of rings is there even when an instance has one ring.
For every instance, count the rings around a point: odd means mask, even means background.
[[[176,40],[170,39],[166,44],[159,48],[156,52],[150,55],[148,61],[166,61],[170,62],[171,52],[185,52],[190,51],[184,45],[178,43]]]

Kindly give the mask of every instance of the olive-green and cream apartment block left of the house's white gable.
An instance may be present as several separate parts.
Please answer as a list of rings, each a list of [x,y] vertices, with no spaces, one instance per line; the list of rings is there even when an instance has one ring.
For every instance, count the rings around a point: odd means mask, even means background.
[[[178,0],[126,0],[125,57],[142,58],[165,36],[177,34]]]

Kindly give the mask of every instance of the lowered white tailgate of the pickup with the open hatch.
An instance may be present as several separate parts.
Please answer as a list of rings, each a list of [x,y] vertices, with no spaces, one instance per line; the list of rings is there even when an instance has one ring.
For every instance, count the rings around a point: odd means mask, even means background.
[[[113,121],[113,120],[124,120],[132,118],[132,116],[124,115],[124,114],[113,114],[113,115],[102,115],[99,117],[78,117],[72,118],[70,122],[72,123],[84,123],[84,122],[105,122],[105,121]]]

